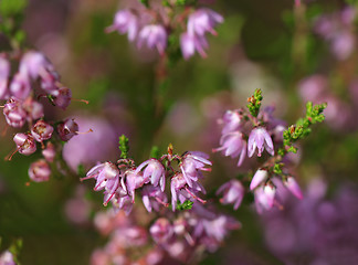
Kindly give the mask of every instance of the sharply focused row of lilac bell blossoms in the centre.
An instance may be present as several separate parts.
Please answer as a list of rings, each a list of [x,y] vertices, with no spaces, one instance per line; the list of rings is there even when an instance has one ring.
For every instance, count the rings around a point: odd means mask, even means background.
[[[169,146],[168,153],[160,159],[151,158],[138,167],[128,158],[119,159],[116,163],[99,163],[82,180],[95,179],[94,190],[104,190],[104,204],[110,201],[115,209],[123,209],[127,214],[135,202],[136,190],[139,190],[148,212],[159,211],[160,205],[168,206],[165,188],[167,180],[170,180],[171,206],[175,211],[178,203],[194,200],[204,202],[198,192],[206,193],[199,180],[203,178],[201,171],[210,171],[207,168],[211,166],[208,158],[208,155],[199,151],[172,155]],[[175,163],[178,170],[173,168]]]

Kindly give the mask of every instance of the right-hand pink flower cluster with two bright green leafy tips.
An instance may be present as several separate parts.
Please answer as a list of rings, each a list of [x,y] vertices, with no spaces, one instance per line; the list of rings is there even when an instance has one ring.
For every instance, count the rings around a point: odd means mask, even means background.
[[[286,129],[283,120],[273,117],[272,107],[260,109],[261,100],[261,91],[257,89],[248,99],[249,112],[242,108],[224,114],[220,119],[220,124],[223,125],[221,147],[213,149],[214,152],[222,151],[227,157],[239,157],[238,167],[242,166],[246,156],[251,158],[257,150],[257,157],[262,157],[266,150],[268,156],[260,159],[259,166],[254,169],[255,173],[248,179],[250,181],[248,188],[254,194],[259,213],[280,205],[277,184],[286,187],[296,198],[303,198],[297,181],[285,165],[289,159],[286,155],[296,152],[293,142],[309,134],[310,124],[324,119],[322,112],[325,108],[325,105],[313,107],[312,104],[307,104],[306,118]],[[218,195],[222,194],[221,203],[233,204],[235,210],[240,206],[244,193],[245,187],[240,180],[231,180],[217,191]]]

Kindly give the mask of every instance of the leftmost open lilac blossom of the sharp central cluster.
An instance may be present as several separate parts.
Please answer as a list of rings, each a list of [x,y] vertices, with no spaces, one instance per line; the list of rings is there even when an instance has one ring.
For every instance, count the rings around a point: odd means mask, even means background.
[[[86,179],[96,179],[96,184],[94,190],[103,190],[105,189],[106,197],[104,200],[104,204],[106,205],[108,201],[115,195],[118,187],[119,187],[119,170],[118,168],[112,162],[104,162],[97,165],[96,167],[92,168],[85,178]]]

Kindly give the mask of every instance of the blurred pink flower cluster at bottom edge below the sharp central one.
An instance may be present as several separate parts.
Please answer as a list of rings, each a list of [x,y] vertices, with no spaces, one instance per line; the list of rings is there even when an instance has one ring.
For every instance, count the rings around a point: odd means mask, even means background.
[[[93,265],[110,264],[118,259],[126,264],[134,262],[133,256],[140,264],[158,264],[166,256],[166,262],[175,259],[188,263],[198,258],[203,250],[215,252],[229,232],[241,226],[230,216],[198,202],[193,203],[191,210],[179,212],[177,216],[166,214],[155,222],[144,219],[148,225],[151,223],[148,229],[138,225],[135,216],[126,216],[123,212],[98,213],[95,216],[95,225],[102,234],[109,235],[109,242],[93,253]],[[130,255],[135,251],[138,254]]]

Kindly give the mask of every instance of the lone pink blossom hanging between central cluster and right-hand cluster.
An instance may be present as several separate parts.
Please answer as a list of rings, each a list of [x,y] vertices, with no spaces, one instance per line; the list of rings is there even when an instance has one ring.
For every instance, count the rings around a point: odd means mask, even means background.
[[[230,180],[219,188],[217,195],[223,193],[220,199],[222,204],[234,204],[234,210],[238,210],[245,193],[245,189],[239,180]]]

